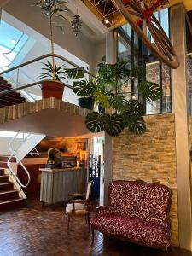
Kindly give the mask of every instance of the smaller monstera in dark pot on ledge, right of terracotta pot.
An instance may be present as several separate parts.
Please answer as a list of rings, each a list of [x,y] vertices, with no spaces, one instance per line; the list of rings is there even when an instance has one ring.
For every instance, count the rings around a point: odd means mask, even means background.
[[[95,81],[93,79],[90,79],[90,81],[88,81],[88,79],[84,77],[84,71],[78,68],[66,68],[64,70],[64,73],[67,79],[78,79],[78,81],[73,81],[73,92],[77,96],[79,96],[79,106],[82,108],[88,108],[92,110],[95,102]]]

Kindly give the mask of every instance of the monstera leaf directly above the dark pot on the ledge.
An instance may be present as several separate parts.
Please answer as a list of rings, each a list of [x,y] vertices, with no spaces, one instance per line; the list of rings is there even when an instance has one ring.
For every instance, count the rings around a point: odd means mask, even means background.
[[[93,96],[96,90],[96,84],[92,81],[87,82],[85,80],[73,82],[73,92],[78,96]]]

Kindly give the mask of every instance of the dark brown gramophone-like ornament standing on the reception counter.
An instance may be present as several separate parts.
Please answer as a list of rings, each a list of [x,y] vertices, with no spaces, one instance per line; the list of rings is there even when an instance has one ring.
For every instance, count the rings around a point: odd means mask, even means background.
[[[62,167],[61,152],[58,148],[49,148],[47,167],[49,168]]]

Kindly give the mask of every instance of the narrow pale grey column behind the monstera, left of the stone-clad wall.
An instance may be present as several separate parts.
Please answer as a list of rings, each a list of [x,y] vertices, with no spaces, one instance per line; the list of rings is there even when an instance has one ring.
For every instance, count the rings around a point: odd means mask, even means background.
[[[111,31],[106,34],[106,61],[115,63],[116,55],[116,32]],[[104,205],[108,204],[108,184],[112,181],[112,143],[113,139],[105,132],[104,146]]]

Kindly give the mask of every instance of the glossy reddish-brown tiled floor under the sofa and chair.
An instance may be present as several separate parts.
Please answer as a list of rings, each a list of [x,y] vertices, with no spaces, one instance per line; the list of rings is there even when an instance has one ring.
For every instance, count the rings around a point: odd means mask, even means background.
[[[41,207],[38,201],[30,201],[28,208],[0,215],[0,256],[161,256],[164,253],[138,247],[96,232],[95,243],[84,219],[67,224],[63,207]],[[93,213],[92,213],[93,214]],[[171,250],[167,256],[189,256],[191,253]]]

